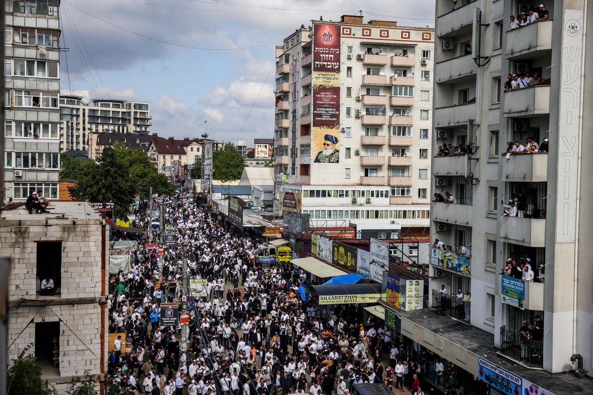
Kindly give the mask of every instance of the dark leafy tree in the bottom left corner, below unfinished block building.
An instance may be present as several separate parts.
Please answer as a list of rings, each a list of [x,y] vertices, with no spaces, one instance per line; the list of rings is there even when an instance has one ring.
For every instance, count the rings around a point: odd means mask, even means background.
[[[42,366],[37,357],[27,354],[33,345],[26,346],[17,358],[12,359],[12,366],[8,368],[8,395],[38,394],[53,395],[56,391],[43,384],[41,378]]]

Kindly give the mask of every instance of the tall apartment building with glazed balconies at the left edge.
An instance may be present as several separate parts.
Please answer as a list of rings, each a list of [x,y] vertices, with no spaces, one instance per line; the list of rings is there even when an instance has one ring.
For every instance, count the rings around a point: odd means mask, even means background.
[[[5,3],[5,200],[58,199],[59,1]]]

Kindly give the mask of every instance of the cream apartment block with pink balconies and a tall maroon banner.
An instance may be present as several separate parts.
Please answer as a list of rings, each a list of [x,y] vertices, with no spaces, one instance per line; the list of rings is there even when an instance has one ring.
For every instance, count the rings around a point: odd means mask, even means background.
[[[343,15],[276,47],[275,209],[316,227],[428,227],[433,29]]]

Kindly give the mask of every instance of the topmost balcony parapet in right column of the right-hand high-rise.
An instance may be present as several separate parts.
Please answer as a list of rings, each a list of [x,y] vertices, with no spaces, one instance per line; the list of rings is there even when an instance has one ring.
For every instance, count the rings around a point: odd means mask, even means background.
[[[543,57],[552,49],[553,21],[540,21],[506,32],[505,57],[521,60],[526,57]]]

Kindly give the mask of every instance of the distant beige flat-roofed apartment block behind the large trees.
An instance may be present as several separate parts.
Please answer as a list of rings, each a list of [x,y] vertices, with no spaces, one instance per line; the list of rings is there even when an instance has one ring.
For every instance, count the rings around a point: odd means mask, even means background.
[[[152,117],[146,102],[60,95],[60,151],[87,150],[90,133],[150,133]],[[89,157],[93,156],[92,153]]]

